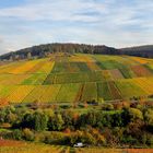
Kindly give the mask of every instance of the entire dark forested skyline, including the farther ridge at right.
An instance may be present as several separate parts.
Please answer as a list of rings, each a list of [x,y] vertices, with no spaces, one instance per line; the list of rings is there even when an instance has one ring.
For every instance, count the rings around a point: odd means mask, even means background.
[[[139,57],[153,57],[153,45],[116,49],[105,45],[85,45],[85,44],[45,44],[24,48],[17,51],[11,51],[0,56],[1,60],[19,60],[26,58],[44,58],[52,52],[69,54],[102,54],[102,55],[130,55]]]

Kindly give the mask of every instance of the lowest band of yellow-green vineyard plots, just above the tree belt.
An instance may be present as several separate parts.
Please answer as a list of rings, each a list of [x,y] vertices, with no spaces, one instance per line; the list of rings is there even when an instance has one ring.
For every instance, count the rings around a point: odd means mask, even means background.
[[[80,93],[82,85],[84,87]],[[151,95],[153,93],[152,85],[151,79],[52,85],[1,85],[0,96],[12,103],[31,103],[35,101],[42,103],[70,103],[75,102],[75,99],[81,102],[93,99],[129,99],[132,97],[146,97]]]

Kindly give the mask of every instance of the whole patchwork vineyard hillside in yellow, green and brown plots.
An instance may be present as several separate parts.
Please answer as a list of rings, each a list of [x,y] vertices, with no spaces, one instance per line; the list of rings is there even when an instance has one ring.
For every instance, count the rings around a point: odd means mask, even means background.
[[[85,103],[153,95],[153,59],[63,55],[0,66],[0,104]]]

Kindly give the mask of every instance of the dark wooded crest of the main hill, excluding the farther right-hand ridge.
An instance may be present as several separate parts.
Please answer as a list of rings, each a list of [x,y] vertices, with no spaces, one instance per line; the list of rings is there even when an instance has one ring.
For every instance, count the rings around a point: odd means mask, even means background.
[[[24,48],[17,51],[12,51],[0,56],[1,60],[9,59],[26,59],[30,57],[43,58],[51,52],[69,52],[69,54],[104,54],[104,55],[117,55],[118,49],[107,46],[93,46],[84,44],[46,44],[39,46],[33,46]]]

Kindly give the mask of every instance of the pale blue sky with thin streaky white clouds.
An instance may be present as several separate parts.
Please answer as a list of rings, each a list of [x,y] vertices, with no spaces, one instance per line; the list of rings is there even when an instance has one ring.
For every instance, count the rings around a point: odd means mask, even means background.
[[[153,0],[0,0],[0,54],[47,43],[153,44]]]

